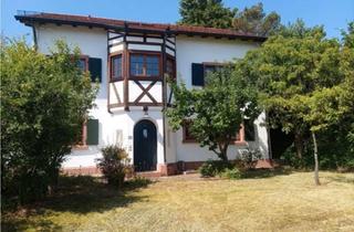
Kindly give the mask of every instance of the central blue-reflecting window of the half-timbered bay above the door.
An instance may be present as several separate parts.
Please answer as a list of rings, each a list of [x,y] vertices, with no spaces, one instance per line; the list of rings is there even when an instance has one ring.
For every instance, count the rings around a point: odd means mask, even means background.
[[[132,76],[159,76],[159,55],[132,54],[131,75]]]

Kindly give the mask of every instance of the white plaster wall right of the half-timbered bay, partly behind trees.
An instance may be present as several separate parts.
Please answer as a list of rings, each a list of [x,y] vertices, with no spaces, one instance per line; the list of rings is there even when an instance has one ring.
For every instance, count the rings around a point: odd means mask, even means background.
[[[183,78],[187,87],[191,85],[191,63],[226,63],[235,59],[243,57],[247,51],[256,49],[259,44],[254,42],[235,41],[228,39],[201,39],[190,36],[177,38],[177,76]],[[256,141],[248,143],[248,146],[259,148],[266,159],[269,158],[268,134],[267,128],[260,126],[266,118],[261,114],[254,122]],[[177,157],[176,161],[200,161],[215,159],[216,155],[207,148],[200,148],[198,144],[184,144],[183,131],[179,130],[174,135],[176,139]],[[228,149],[229,159],[236,159],[239,149],[246,148],[247,145],[230,146]]]

